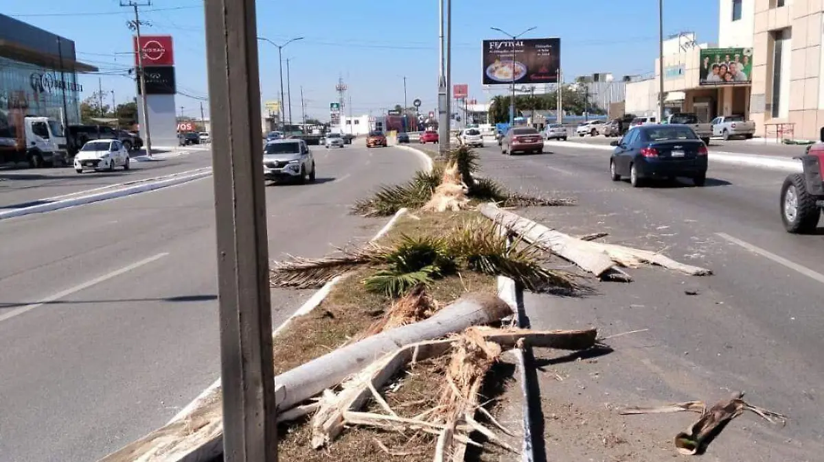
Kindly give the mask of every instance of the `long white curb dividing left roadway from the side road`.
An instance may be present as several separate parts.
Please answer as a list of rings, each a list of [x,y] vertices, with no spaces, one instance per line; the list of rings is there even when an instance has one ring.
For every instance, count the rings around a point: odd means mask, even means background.
[[[149,192],[154,191],[156,189],[161,189],[162,187],[176,186],[199,178],[206,178],[212,174],[212,169],[210,167],[200,170],[201,171],[199,171],[198,173],[191,173],[188,175],[181,175],[180,173],[175,173],[174,175],[169,175],[168,178],[155,178],[155,181],[152,181],[151,179],[141,180],[141,184],[131,187],[124,187],[122,189],[117,189],[115,191],[98,192],[96,194],[89,194],[87,196],[74,197],[72,199],[62,199],[59,201],[49,202],[46,204],[38,204],[36,206],[21,207],[15,210],[8,210],[0,212],[0,219],[50,212],[54,210],[66,209],[68,207],[83,206],[86,204],[91,204],[93,202],[108,201],[110,199],[115,199],[117,197],[137,194],[138,192]]]

